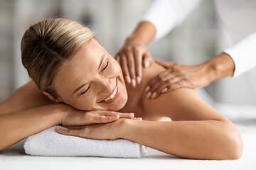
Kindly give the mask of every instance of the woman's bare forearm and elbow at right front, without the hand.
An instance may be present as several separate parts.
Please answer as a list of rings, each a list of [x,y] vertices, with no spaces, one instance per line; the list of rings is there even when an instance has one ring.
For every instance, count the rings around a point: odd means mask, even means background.
[[[222,120],[129,121],[118,138],[187,159],[239,159],[242,140],[234,125]]]

